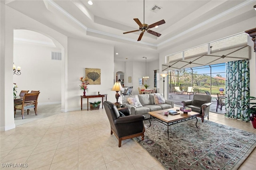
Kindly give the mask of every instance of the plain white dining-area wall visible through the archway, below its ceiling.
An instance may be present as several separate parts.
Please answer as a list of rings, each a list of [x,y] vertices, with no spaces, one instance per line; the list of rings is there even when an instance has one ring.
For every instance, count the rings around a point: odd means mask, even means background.
[[[38,105],[61,102],[61,61],[52,60],[52,51],[61,52],[56,47],[32,43],[14,43],[14,64],[21,66],[21,74],[13,76],[21,90],[40,90]]]

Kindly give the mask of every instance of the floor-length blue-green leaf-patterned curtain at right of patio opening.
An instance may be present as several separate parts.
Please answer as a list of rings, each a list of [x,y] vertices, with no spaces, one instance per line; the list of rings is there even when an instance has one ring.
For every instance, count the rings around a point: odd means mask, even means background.
[[[226,64],[226,103],[225,117],[249,121],[246,114],[250,96],[249,60],[231,61]]]

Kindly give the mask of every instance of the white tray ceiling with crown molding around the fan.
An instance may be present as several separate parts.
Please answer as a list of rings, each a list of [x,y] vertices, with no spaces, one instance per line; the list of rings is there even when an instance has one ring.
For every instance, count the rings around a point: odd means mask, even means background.
[[[87,0],[8,0],[6,5],[69,37],[114,45],[116,61],[144,61],[144,56],[154,61],[161,50],[190,35],[200,37],[256,16],[256,0],[145,0],[145,23],[166,23],[152,28],[160,37],[144,33],[137,41],[140,31],[123,32],[139,28],[133,18],[143,23],[143,0],[92,1],[92,6]],[[155,4],[162,9],[150,11]]]

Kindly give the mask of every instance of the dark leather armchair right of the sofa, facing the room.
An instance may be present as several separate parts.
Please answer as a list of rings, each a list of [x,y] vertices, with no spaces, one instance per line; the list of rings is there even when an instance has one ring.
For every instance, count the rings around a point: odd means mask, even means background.
[[[190,107],[192,111],[200,113],[197,117],[202,118],[204,122],[204,117],[207,116],[209,120],[209,111],[212,100],[212,96],[204,94],[194,94],[192,100],[182,101],[183,107]]]

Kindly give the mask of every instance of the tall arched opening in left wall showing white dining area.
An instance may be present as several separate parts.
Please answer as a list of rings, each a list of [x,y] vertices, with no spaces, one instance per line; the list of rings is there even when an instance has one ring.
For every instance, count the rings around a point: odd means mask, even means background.
[[[14,29],[13,61],[22,73],[13,75],[17,95],[21,90],[40,90],[38,105],[61,103],[62,48],[42,33]]]

